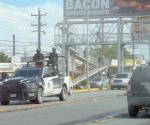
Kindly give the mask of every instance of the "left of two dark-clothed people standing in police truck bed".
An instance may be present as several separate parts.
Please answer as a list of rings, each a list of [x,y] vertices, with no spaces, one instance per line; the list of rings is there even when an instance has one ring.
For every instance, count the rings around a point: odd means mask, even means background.
[[[36,50],[36,54],[33,56],[33,61],[36,65],[43,65],[44,56],[39,49]]]

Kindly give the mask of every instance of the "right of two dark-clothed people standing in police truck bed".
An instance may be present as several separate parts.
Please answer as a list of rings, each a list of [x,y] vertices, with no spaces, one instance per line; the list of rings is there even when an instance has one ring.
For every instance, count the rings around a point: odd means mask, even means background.
[[[48,65],[52,65],[54,70],[58,70],[58,54],[56,53],[56,48],[52,49],[52,52],[49,54]]]

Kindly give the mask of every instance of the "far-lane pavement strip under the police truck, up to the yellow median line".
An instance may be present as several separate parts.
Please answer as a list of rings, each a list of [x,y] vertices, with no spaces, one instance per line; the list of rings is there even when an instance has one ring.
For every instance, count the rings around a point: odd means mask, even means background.
[[[46,97],[44,98],[44,103],[40,105],[32,104],[30,101],[14,101],[11,102],[8,106],[1,106],[0,112],[13,112],[15,110],[26,110],[32,108],[40,108],[45,106],[55,106],[66,103],[81,102],[86,100],[91,100],[92,98],[103,98],[108,96],[121,96],[125,91],[117,90],[103,90],[103,91],[94,91],[94,92],[81,92],[73,93],[68,97],[68,100],[65,102],[59,101],[56,97]]]

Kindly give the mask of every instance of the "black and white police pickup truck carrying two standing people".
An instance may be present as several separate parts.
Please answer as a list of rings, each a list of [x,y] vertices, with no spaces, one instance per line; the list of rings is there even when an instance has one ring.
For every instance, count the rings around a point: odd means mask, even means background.
[[[8,105],[11,100],[40,104],[44,96],[57,96],[64,101],[70,92],[70,78],[54,73],[48,66],[24,66],[17,69],[13,77],[0,82],[2,105]]]

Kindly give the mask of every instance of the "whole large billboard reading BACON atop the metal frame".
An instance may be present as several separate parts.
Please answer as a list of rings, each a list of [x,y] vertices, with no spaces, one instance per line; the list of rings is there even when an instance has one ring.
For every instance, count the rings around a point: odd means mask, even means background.
[[[64,18],[150,15],[150,0],[64,0]]]

